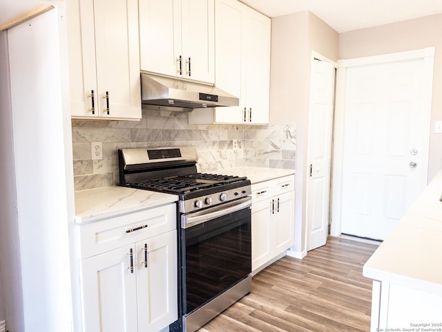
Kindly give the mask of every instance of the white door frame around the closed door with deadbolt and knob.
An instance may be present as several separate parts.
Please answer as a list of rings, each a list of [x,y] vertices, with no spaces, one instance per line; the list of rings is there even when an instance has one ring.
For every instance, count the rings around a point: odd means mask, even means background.
[[[340,236],[341,220],[341,196],[343,179],[343,151],[344,151],[344,120],[345,120],[345,77],[346,68],[353,66],[366,66],[369,64],[383,64],[387,62],[398,62],[411,59],[424,59],[424,102],[423,114],[424,123],[430,133],[431,104],[432,104],[432,82],[434,67],[434,47],[422,48],[420,50],[410,50],[406,52],[390,53],[385,55],[375,55],[372,57],[359,57],[356,59],[338,60],[336,71],[336,105],[334,121],[334,145],[333,145],[333,167],[332,167],[332,225],[330,234],[333,237]],[[430,135],[423,138],[423,169],[428,172],[428,154],[430,148]],[[421,153],[419,151],[419,153]],[[421,178],[421,183],[427,185],[427,172]]]

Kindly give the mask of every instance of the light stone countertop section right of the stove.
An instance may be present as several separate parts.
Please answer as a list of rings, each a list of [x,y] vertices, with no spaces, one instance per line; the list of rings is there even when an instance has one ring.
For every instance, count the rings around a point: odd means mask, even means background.
[[[272,180],[273,178],[282,178],[282,176],[293,175],[295,174],[295,170],[266,167],[233,167],[217,169],[209,173],[232,176],[247,176],[247,178],[249,178],[251,184],[253,185],[262,181]]]

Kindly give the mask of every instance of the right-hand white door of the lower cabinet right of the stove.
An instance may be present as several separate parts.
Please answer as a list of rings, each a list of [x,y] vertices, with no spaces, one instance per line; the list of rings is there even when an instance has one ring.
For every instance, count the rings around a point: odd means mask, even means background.
[[[276,230],[275,255],[279,255],[294,243],[295,192],[280,194],[273,200],[276,202],[276,213],[273,215],[273,227]]]

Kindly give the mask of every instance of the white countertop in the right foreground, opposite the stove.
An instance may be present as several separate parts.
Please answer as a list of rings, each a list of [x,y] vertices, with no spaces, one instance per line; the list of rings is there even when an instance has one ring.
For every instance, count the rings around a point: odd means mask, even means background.
[[[363,268],[371,279],[442,296],[442,171]]]

